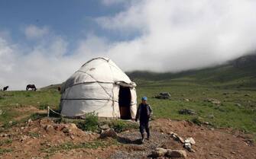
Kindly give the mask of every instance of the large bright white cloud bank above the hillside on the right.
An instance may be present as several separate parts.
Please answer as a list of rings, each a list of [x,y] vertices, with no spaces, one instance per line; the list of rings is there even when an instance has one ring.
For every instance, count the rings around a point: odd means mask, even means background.
[[[108,51],[126,69],[176,72],[225,62],[255,49],[255,7],[250,0],[144,0],[96,21],[106,30],[139,33]]]

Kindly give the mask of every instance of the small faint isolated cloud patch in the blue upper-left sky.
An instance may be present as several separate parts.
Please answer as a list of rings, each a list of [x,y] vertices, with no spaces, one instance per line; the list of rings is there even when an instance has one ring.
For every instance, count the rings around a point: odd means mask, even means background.
[[[28,39],[44,37],[47,33],[49,33],[48,27],[29,25],[24,28],[24,34]]]

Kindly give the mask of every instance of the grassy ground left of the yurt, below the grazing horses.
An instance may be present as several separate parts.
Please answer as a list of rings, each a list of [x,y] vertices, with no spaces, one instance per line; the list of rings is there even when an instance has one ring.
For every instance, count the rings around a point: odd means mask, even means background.
[[[30,115],[31,112],[22,108],[36,107],[45,109],[47,106],[59,106],[60,93],[57,91],[0,91],[0,124],[14,121],[19,116]]]

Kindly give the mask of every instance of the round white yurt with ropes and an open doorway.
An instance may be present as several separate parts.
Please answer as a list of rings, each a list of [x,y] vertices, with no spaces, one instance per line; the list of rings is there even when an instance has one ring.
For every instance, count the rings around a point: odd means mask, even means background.
[[[137,111],[136,84],[111,59],[86,62],[61,88],[60,112],[63,116],[134,119]]]

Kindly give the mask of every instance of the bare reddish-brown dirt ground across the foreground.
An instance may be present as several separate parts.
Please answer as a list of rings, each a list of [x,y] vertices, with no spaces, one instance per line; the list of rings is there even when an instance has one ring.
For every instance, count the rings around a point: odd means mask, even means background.
[[[186,150],[170,132],[196,141],[193,145],[196,152],[186,151],[187,158],[256,158],[252,137],[232,129],[210,129],[186,121],[156,119],[151,122],[151,140],[141,144],[138,130],[122,132],[117,139],[99,139],[99,134],[47,118],[1,132],[0,148],[5,151],[0,151],[0,158],[147,158],[155,148]]]

